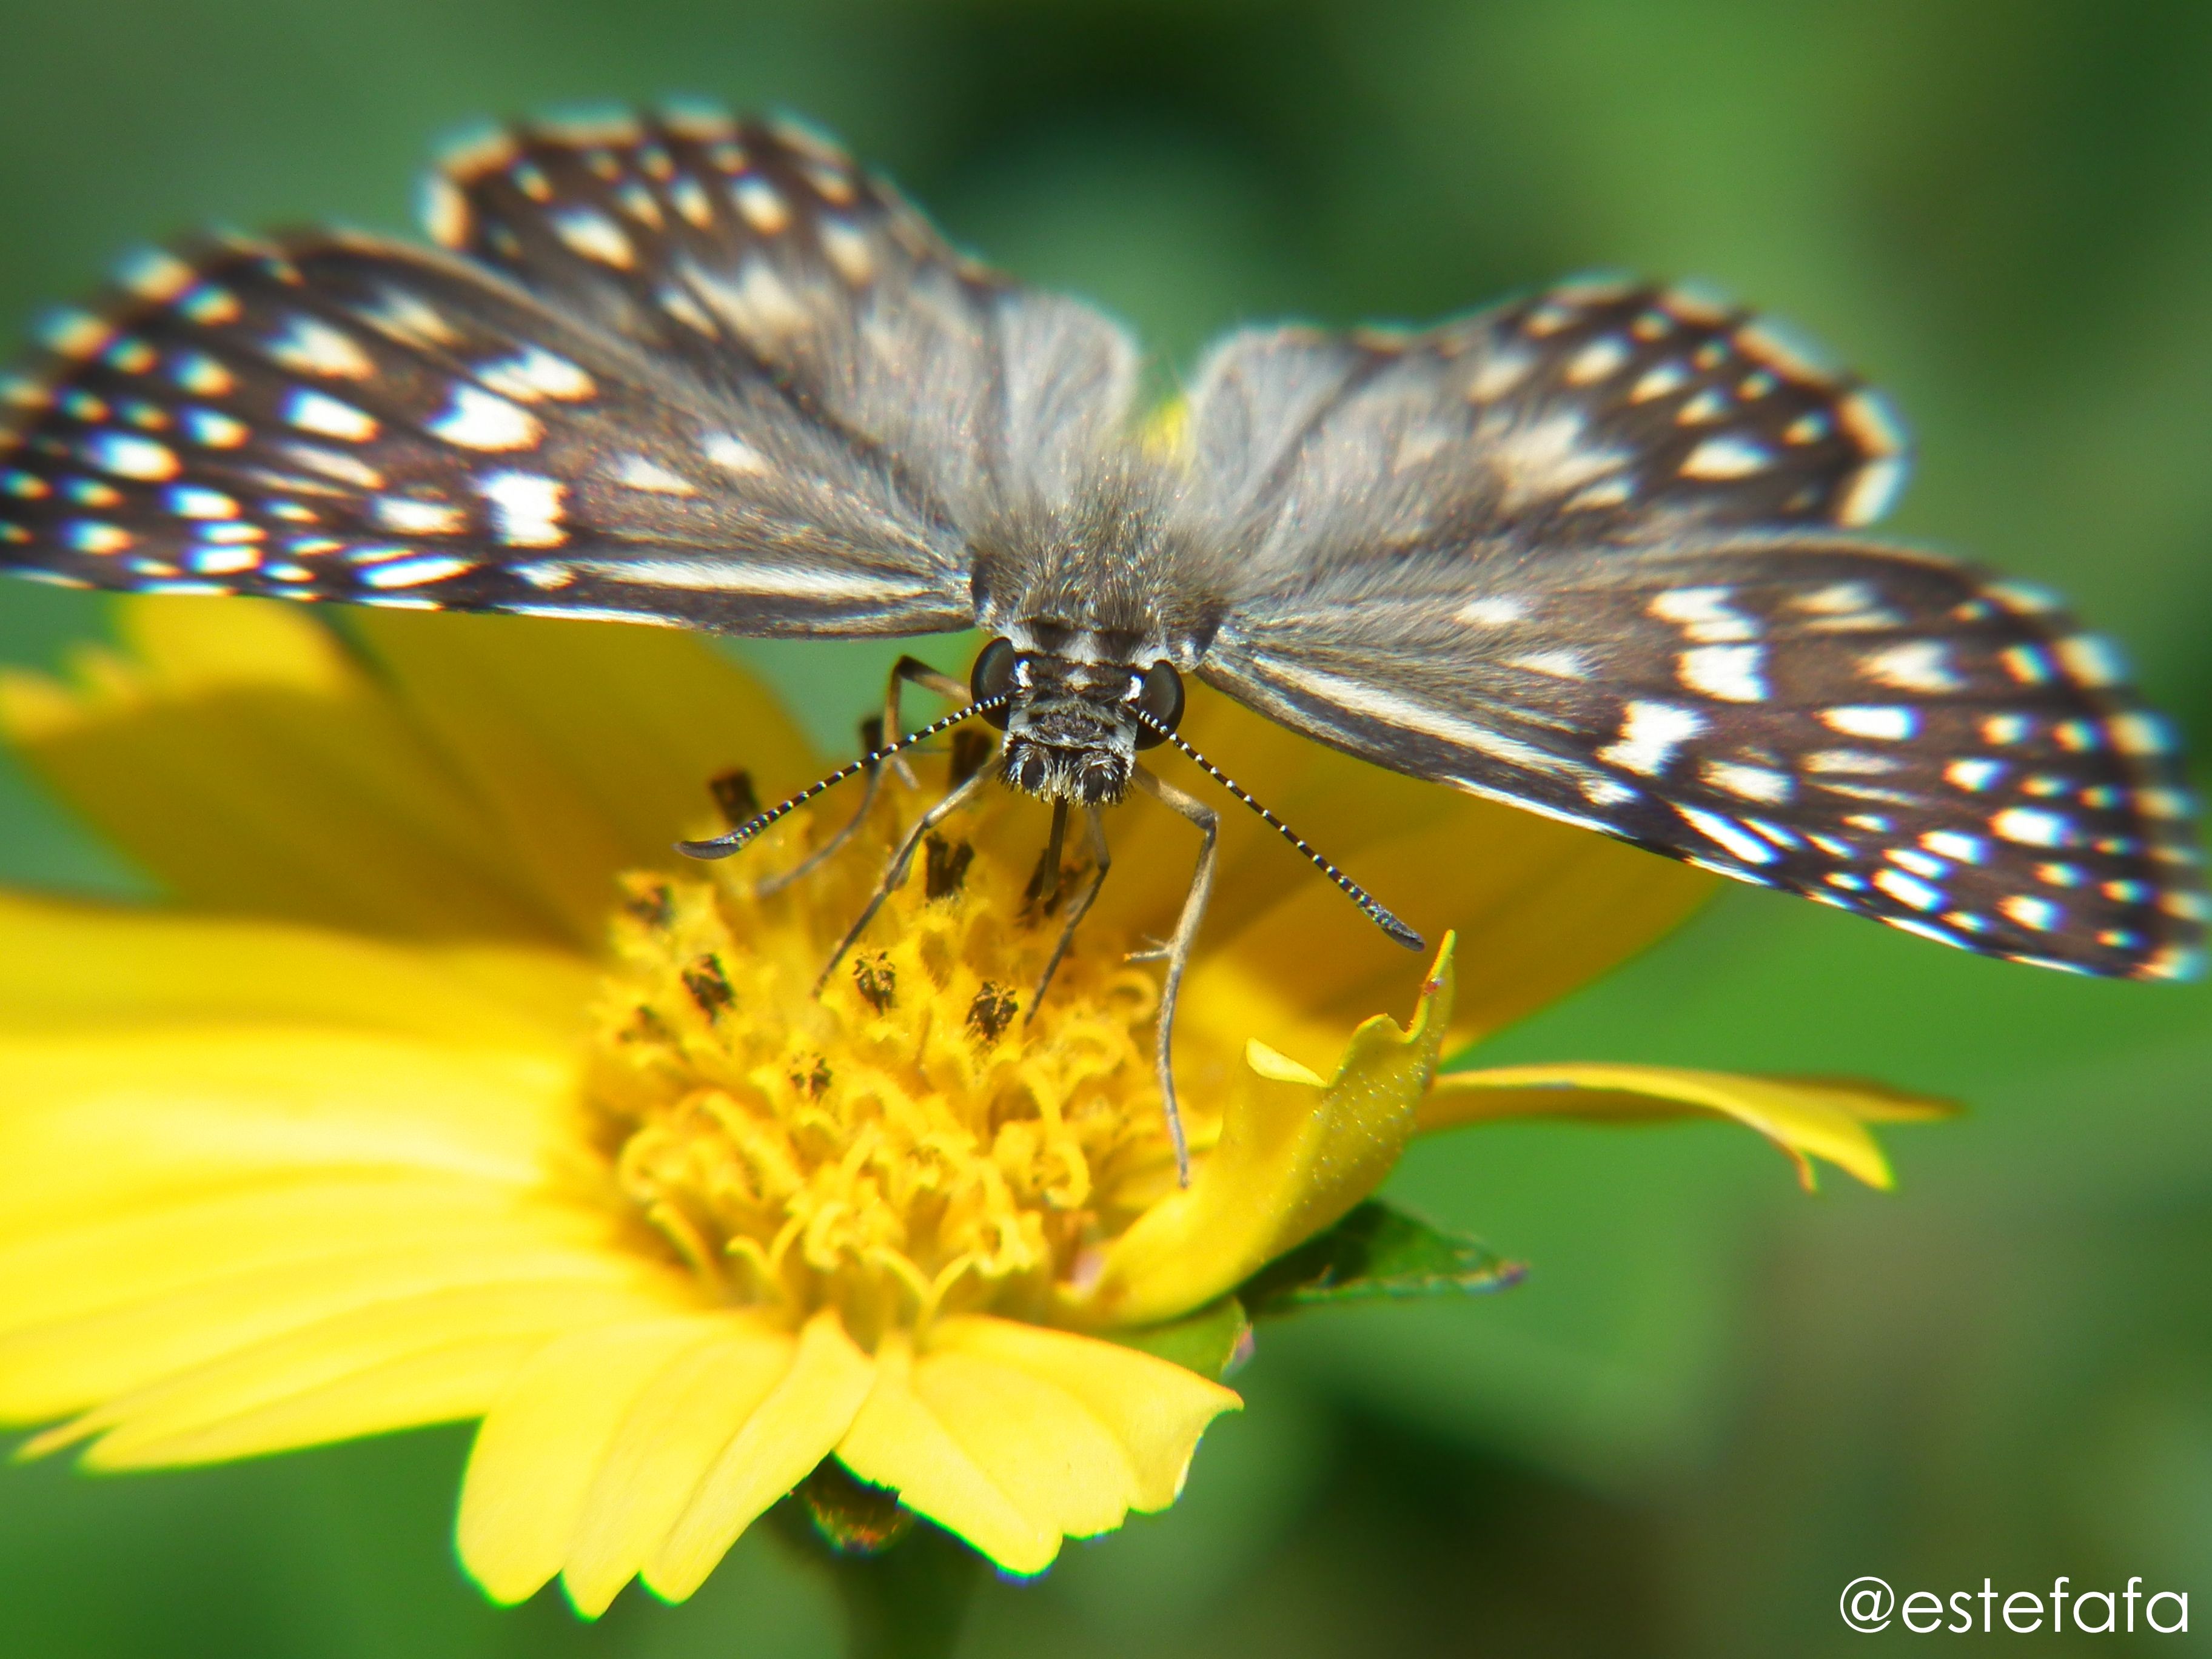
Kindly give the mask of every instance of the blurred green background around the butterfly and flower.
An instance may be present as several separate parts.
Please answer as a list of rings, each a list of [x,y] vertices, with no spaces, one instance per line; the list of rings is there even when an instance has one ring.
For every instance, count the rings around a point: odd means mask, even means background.
[[[2070,591],[2212,754],[2205,4],[0,0],[0,42],[9,327],[197,221],[403,228],[431,139],[478,113],[675,91],[843,131],[1170,369],[1243,319],[1705,276],[1893,392],[1922,447],[1905,533]],[[102,626],[0,588],[0,657]],[[860,650],[768,661],[832,743],[878,684]],[[0,770],[0,878],[119,872]],[[1270,1327],[1186,1502],[987,1586],[967,1652],[1856,1652],[1836,1597],[1863,1573],[2141,1573],[2199,1604],[2157,1650],[2212,1652],[2212,991],[1734,891],[1491,1053],[1865,1073],[1975,1110],[1891,1137],[1896,1194],[1807,1199],[1719,1126],[1420,1146],[1391,1192],[1531,1281]],[[0,1650],[836,1650],[768,1537],[681,1608],[487,1608],[447,1548],[465,1447],[4,1471]]]

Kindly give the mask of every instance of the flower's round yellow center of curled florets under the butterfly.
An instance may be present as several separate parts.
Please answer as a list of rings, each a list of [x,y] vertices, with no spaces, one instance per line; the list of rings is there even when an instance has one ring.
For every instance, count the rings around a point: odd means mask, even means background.
[[[816,993],[927,799],[885,796],[765,898],[818,825],[697,876],[626,876],[588,1068],[622,1197],[710,1294],[792,1318],[834,1303],[863,1340],[947,1310],[1042,1314],[1170,1168],[1157,980],[1091,918],[1031,1009],[1091,872],[1071,860],[1040,894],[1042,818],[1004,796],[925,843]]]

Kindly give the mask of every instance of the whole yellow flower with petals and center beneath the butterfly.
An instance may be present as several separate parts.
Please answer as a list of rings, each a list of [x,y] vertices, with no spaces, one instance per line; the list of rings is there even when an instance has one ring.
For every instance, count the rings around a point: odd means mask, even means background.
[[[1126,956],[1181,900],[1181,821],[1115,814],[1106,898],[1035,1011],[1042,818],[1004,794],[816,1000],[920,796],[887,787],[770,898],[836,803],[730,865],[672,858],[708,779],[741,763],[774,796],[816,765],[706,644],[117,615],[124,653],[0,681],[18,750],[175,900],[0,898],[0,1418],[100,1469],[482,1418],[460,1553],[502,1601],[555,1575],[586,1615],[630,1577],[686,1597],[832,1455],[1042,1571],[1170,1504],[1239,1405],[1146,1327],[1225,1307],[1418,1130],[1712,1110],[1882,1183],[1863,1121],[1929,1110],[1632,1066],[1438,1079],[1705,878],[1201,701],[1192,739],[1444,949],[1407,1026],[1360,1024],[1413,964],[1225,816],[1179,1190],[1157,969]]]

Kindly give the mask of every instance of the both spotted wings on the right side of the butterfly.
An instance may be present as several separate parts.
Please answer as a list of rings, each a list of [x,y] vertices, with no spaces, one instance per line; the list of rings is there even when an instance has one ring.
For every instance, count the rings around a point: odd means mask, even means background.
[[[1973,951],[2197,971],[2192,803],[2112,650],[1849,526],[1865,392],[1701,301],[1250,334],[1190,407],[1199,672],[1327,743]]]

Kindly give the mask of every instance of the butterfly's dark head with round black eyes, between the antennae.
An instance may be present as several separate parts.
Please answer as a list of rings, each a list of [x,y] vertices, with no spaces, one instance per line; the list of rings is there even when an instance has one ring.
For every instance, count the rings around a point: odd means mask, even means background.
[[[1137,750],[1166,741],[1183,714],[1183,681],[1164,659],[1093,661],[993,639],[975,659],[969,686],[978,699],[1009,699],[984,714],[1006,732],[1000,776],[1015,790],[1071,805],[1119,801]],[[1150,723],[1137,719],[1139,710]]]

